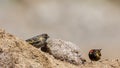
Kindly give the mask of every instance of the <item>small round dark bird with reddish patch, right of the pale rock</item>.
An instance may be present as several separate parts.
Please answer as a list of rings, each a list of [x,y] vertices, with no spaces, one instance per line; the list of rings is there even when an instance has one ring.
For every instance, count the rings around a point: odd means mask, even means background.
[[[89,51],[89,58],[92,61],[98,61],[101,58],[101,49],[91,49]]]

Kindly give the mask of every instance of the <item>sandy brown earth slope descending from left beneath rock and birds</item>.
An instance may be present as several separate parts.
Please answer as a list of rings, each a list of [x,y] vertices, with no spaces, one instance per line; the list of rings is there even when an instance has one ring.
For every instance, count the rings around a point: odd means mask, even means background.
[[[0,68],[120,68],[119,59],[73,65],[55,59],[22,39],[0,29]]]

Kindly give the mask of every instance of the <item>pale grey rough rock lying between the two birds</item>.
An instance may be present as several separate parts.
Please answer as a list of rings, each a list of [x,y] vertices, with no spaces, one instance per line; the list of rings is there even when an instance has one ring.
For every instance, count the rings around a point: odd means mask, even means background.
[[[75,44],[60,39],[50,39],[47,42],[48,52],[55,58],[73,64],[81,64],[81,53]]]

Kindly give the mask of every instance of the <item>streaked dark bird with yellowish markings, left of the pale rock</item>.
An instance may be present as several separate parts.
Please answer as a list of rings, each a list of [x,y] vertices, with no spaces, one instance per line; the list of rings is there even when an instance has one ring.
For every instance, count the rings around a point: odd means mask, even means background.
[[[47,34],[41,34],[41,35],[32,37],[30,39],[27,39],[26,42],[28,42],[29,44],[33,45],[36,48],[40,48],[47,44],[46,40],[48,38],[49,38],[49,36]]]

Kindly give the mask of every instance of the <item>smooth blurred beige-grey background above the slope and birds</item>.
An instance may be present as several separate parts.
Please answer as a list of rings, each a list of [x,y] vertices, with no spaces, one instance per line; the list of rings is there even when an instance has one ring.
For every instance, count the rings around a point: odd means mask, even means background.
[[[120,57],[119,0],[0,0],[0,28],[21,39],[41,33],[71,41],[86,57]]]

